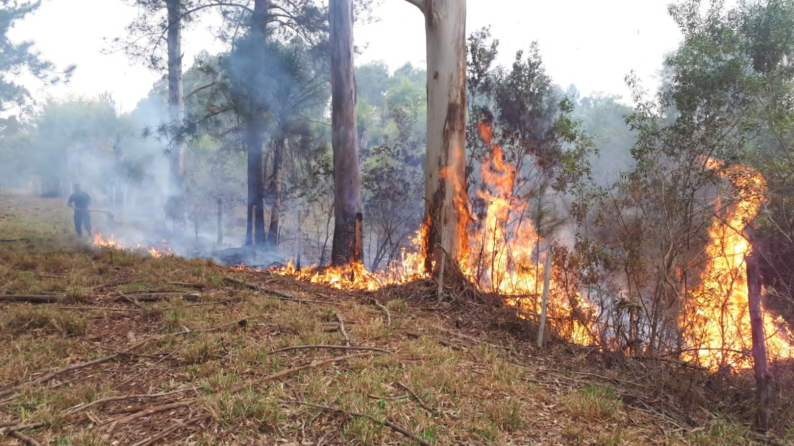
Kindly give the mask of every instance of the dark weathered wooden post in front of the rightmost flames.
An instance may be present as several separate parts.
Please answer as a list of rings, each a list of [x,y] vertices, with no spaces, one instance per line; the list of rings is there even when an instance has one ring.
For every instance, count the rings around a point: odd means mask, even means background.
[[[770,386],[769,363],[766,358],[766,336],[764,317],[761,314],[761,271],[757,256],[746,256],[747,300],[750,310],[750,331],[753,333],[753,361],[755,383],[758,395],[758,429],[769,429],[772,417],[772,389]]]

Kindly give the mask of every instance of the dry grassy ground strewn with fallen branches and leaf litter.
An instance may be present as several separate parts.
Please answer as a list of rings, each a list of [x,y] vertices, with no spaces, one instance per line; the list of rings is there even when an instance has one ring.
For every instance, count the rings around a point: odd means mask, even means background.
[[[330,290],[94,248],[0,193],[2,444],[792,444],[752,380],[553,340],[434,283]],[[788,404],[788,406],[786,406]]]

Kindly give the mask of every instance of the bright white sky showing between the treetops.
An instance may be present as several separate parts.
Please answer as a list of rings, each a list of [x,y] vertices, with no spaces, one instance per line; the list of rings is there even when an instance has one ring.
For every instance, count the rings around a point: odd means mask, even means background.
[[[376,0],[376,2],[379,0]],[[656,72],[680,34],[667,15],[670,0],[468,0],[467,34],[491,25],[500,40],[499,63],[509,65],[518,49],[538,40],[546,71],[555,83],[574,83],[583,95],[594,91],[628,97],[623,78],[634,70],[646,87],[657,85]],[[44,0],[36,13],[13,29],[13,40],[33,40],[48,60],[75,63],[71,83],[43,87],[26,83],[37,98],[50,94],[95,97],[110,92],[122,111],[132,110],[161,74],[131,65],[123,53],[102,54],[103,38],[121,37],[137,9],[121,0]],[[380,0],[379,22],[354,29],[356,43],[367,47],[356,63],[384,60],[391,69],[403,63],[424,66],[424,19],[404,0]],[[186,68],[202,48],[218,52],[206,25],[184,35]]]

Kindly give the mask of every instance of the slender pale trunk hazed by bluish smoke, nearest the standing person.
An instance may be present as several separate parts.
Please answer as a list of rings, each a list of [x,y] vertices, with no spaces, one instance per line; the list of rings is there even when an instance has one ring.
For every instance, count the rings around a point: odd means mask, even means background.
[[[185,148],[178,135],[184,124],[185,100],[182,87],[182,23],[181,0],[168,0],[168,117],[171,132],[168,165],[168,217],[183,221],[185,217]]]

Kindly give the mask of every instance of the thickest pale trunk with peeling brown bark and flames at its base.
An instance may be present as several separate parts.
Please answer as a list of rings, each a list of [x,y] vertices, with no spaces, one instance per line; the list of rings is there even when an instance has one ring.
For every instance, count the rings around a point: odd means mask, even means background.
[[[427,40],[427,154],[425,267],[443,256],[456,266],[468,252],[466,224],[466,3],[407,0],[425,15]],[[442,229],[443,228],[443,229]],[[443,234],[443,236],[442,236]],[[452,264],[451,264],[452,263]],[[437,273],[437,271],[434,271]]]

